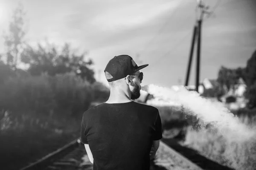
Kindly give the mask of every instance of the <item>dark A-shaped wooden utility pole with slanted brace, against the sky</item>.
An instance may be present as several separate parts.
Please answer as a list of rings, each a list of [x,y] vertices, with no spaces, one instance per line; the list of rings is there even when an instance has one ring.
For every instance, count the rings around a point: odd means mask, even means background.
[[[189,62],[187,67],[186,81],[185,81],[185,86],[188,86],[195,40],[197,40],[196,79],[195,79],[195,88],[196,88],[195,90],[197,92],[198,92],[199,79],[200,79],[201,27],[204,19],[204,14],[206,13],[209,14],[209,12],[207,11],[208,8],[209,7],[205,6],[205,4],[203,3],[203,0],[198,0],[197,11],[199,11],[199,14],[197,16],[197,20],[194,26],[192,43],[191,43],[190,54],[189,54]]]

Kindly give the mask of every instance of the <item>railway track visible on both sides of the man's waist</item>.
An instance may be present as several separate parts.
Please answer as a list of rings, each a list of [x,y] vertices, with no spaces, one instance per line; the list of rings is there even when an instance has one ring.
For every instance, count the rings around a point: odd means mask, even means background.
[[[20,170],[93,170],[80,139],[61,147]],[[150,170],[233,170],[183,147],[173,139],[162,139]]]

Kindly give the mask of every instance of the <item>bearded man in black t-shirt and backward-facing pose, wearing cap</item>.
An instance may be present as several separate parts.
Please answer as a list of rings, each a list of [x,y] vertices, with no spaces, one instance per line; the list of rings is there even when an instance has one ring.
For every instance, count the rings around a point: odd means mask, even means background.
[[[81,142],[93,170],[149,170],[162,138],[159,111],[131,101],[140,97],[140,70],[146,66],[137,66],[128,55],[108,62],[109,99],[85,111],[81,122]]]

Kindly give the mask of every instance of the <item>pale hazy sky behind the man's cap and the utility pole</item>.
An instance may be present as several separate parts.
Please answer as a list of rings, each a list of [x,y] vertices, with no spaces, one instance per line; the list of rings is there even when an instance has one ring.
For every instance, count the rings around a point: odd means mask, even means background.
[[[92,59],[97,80],[108,84],[104,69],[116,55],[128,54],[148,64],[143,85],[184,84],[196,0],[22,0],[26,40],[65,42]],[[244,67],[256,50],[256,0],[204,0],[200,80],[216,79],[221,65]],[[18,0],[0,0],[0,35],[6,31]],[[216,5],[217,4],[217,5]],[[216,8],[214,8],[216,6]],[[195,84],[196,46],[189,79]],[[4,52],[0,39],[0,52]]]

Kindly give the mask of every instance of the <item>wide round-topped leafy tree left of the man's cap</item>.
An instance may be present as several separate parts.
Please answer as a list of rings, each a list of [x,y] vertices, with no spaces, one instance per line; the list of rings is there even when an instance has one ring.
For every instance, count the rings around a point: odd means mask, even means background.
[[[85,54],[79,55],[72,51],[67,43],[60,52],[49,43],[46,47],[38,44],[37,48],[27,45],[21,54],[21,62],[29,65],[28,72],[32,76],[38,76],[42,73],[55,76],[56,74],[74,72],[82,79],[87,79],[88,82],[93,83],[96,81],[94,71],[88,67],[93,64],[93,61],[89,59],[88,62],[85,62]]]

